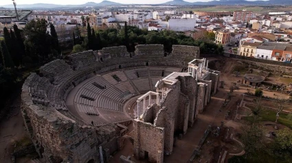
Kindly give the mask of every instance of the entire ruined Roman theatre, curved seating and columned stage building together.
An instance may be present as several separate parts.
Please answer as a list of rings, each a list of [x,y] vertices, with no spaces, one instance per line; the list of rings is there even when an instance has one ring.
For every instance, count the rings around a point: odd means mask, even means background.
[[[164,162],[216,93],[220,72],[199,47],[137,45],[67,55],[31,73],[21,112],[45,162],[109,162],[132,126],[137,160]],[[125,159],[126,160],[126,159]]]

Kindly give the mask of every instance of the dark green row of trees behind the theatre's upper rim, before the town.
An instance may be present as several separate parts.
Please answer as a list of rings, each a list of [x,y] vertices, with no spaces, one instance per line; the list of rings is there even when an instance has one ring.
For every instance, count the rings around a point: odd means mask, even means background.
[[[223,53],[223,46],[216,45],[212,38],[214,38],[214,34],[208,32],[206,32],[204,38],[194,40],[194,38],[183,33],[168,30],[149,32],[147,29],[128,26],[126,23],[122,29],[116,27],[95,31],[87,23],[87,38],[84,39],[82,44],[76,45],[73,52],[76,52],[76,49],[98,50],[102,47],[120,45],[125,45],[129,52],[133,52],[135,51],[135,45],[162,44],[165,51],[168,52],[172,51],[172,45],[190,45],[200,47],[201,53]]]

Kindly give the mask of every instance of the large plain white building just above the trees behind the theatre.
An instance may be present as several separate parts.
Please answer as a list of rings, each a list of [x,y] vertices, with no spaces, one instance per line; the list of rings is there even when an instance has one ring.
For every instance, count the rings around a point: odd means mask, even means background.
[[[189,31],[196,27],[196,19],[194,18],[170,18],[168,21],[168,30],[173,31]]]

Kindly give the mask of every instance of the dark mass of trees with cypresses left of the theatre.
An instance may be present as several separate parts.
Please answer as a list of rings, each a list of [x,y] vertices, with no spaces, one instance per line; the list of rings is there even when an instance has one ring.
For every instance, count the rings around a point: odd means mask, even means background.
[[[50,27],[50,34],[47,27]],[[45,20],[30,21],[22,30],[17,25],[12,29],[4,27],[3,35],[4,40],[0,41],[0,111],[10,95],[19,90],[28,68],[37,69],[60,58],[61,53],[56,29]]]

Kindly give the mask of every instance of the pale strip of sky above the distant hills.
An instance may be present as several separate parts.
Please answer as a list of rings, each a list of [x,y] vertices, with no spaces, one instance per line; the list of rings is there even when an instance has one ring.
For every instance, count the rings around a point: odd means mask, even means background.
[[[100,3],[102,0],[83,0],[83,1],[78,1],[78,0],[15,0],[16,4],[34,4],[34,3],[50,3],[50,4],[58,4],[58,5],[78,5],[78,4],[84,4],[87,2],[96,2]],[[155,4],[155,3],[164,3],[166,1],[170,0],[109,0],[117,3],[148,3],[148,4]],[[211,1],[211,0],[185,0],[188,2],[195,2],[195,1]],[[12,0],[0,0],[0,5],[9,5],[12,4]]]

